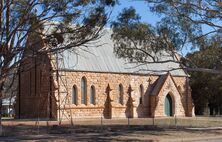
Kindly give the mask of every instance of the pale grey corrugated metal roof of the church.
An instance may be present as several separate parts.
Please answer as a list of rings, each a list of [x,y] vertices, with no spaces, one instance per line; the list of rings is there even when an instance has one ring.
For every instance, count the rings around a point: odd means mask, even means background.
[[[92,72],[113,72],[113,73],[139,73],[139,74],[166,74],[166,71],[180,68],[178,63],[152,63],[139,65],[129,63],[125,59],[117,58],[113,52],[114,43],[111,39],[111,30],[105,30],[97,43],[91,43],[86,49],[76,49],[75,52],[66,50],[61,53],[64,59],[64,66],[60,69]],[[93,46],[95,45],[95,46]],[[98,46],[99,45],[99,46]],[[169,53],[162,51],[159,55],[161,61],[174,59]],[[176,60],[176,59],[174,59]],[[170,71],[172,75],[186,76],[182,69]]]

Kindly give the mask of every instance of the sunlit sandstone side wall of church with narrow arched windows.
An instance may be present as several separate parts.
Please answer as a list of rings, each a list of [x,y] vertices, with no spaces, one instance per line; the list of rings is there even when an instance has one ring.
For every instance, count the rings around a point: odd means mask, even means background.
[[[170,93],[174,99],[174,114],[177,116],[190,116],[190,106],[192,104],[191,97],[188,94],[186,77],[172,77],[167,79],[163,84],[157,96],[151,96],[152,84],[159,78],[156,75],[133,75],[133,74],[115,74],[115,73],[95,73],[95,72],[77,72],[66,71],[62,72],[62,80],[66,80],[66,85],[60,83],[60,90],[67,90],[67,93],[60,94],[61,106],[69,104],[68,116],[72,118],[92,118],[92,117],[105,117],[105,118],[125,118],[125,117],[152,117],[154,114],[157,116],[165,116],[164,114],[164,99],[166,94]],[[87,80],[87,105],[81,104],[81,78],[85,77]],[[167,88],[168,83],[171,82],[172,86]],[[107,102],[106,89],[108,84],[111,88],[109,92],[110,102]],[[123,86],[123,104],[118,102],[119,84]],[[142,104],[140,104],[140,85],[144,87],[144,95],[142,96]],[[77,105],[72,104],[72,87],[77,86],[78,99]],[[90,104],[90,86],[93,85],[96,90],[96,104]],[[129,86],[132,88],[131,105],[129,102]],[[180,91],[180,92],[179,92]],[[159,98],[159,99],[156,99]],[[66,101],[65,101],[66,100]],[[156,100],[156,103],[155,103]],[[158,100],[158,101],[157,101]],[[66,104],[64,103],[66,102]],[[156,106],[156,107],[155,107]],[[188,110],[189,109],[189,110]],[[61,114],[61,113],[60,113]],[[65,119],[60,115],[62,119]]]

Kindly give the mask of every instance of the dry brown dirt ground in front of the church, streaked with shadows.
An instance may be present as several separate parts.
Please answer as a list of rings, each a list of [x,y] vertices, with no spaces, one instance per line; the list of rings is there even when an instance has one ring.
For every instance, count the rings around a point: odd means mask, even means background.
[[[3,122],[0,141],[219,142],[222,141],[220,125],[222,118],[88,119],[61,125],[57,121],[14,120]]]

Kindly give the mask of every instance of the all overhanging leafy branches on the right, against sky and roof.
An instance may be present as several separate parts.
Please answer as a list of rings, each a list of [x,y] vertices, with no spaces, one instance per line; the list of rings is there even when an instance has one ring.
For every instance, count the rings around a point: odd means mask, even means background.
[[[156,55],[160,50],[175,57],[175,51],[205,49],[214,38],[221,38],[222,3],[218,0],[144,1],[162,19],[153,27],[142,23],[135,9],[124,9],[112,24],[115,53],[120,58],[142,64],[158,63]],[[221,40],[214,44],[221,46]],[[160,61],[163,62],[175,60]],[[176,62],[189,71],[221,74],[220,70],[193,68],[191,61],[183,56]]]

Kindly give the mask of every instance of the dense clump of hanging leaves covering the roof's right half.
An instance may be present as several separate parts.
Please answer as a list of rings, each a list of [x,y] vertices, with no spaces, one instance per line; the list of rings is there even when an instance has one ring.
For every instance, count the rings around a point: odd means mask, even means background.
[[[132,7],[123,9],[111,26],[116,55],[120,58],[127,58],[131,62],[166,62],[158,59],[159,51],[166,50],[174,54],[174,49],[179,43],[172,42],[175,40],[170,39],[175,37],[176,33],[173,30],[169,31],[161,25],[155,28],[147,23],[142,23],[140,16]]]

